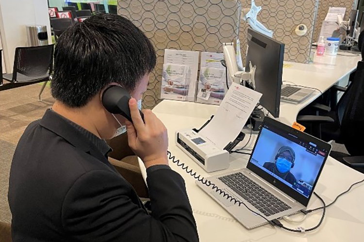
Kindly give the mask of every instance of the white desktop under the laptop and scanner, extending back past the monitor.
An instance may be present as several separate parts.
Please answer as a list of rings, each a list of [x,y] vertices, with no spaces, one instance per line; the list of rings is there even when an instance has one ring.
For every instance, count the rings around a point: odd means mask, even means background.
[[[293,66],[284,69],[283,78],[295,82],[298,85],[311,86],[325,91],[330,86],[339,81],[343,76],[347,76],[355,69],[358,59],[347,59],[339,57],[336,61],[344,61],[349,64],[345,65],[346,71],[332,70],[329,71],[329,66],[320,64],[305,65],[292,63]],[[306,68],[306,69],[305,69]],[[326,74],[325,74],[326,73]],[[311,84],[311,85],[310,85]],[[281,104],[281,121],[292,123],[296,120],[298,111],[305,105],[311,103],[319,93],[307,100],[305,104],[295,106],[293,104]],[[190,168],[201,174],[204,177],[224,173],[227,170],[206,173],[198,164],[192,161],[182,150],[175,145],[175,131],[185,127],[200,127],[205,123],[211,115],[215,114],[217,106],[186,103],[178,101],[164,100],[158,104],[153,112],[164,122],[168,129],[169,136],[169,151]],[[244,130],[248,135],[249,130]],[[248,144],[247,148],[252,148],[255,142],[256,133]],[[242,145],[247,142],[248,138],[242,141]],[[240,146],[242,146],[240,145]],[[228,170],[239,169],[245,167],[248,162],[248,155],[232,154],[230,156],[230,167]],[[218,205],[211,197],[205,194],[196,184],[195,180],[180,167],[175,166],[172,162],[169,163],[173,170],[179,172],[186,183],[186,189],[190,198],[191,206],[197,222],[199,238],[201,242],[243,242],[243,241],[297,241],[297,242],[326,242],[326,241],[362,241],[364,228],[364,184],[357,185],[354,190],[350,191],[345,196],[342,196],[338,201],[327,209],[325,220],[321,227],[311,233],[298,234],[285,231],[281,228],[273,228],[270,225],[258,227],[248,230],[238,223],[228,212]],[[143,176],[145,178],[145,167],[139,161]],[[317,192],[328,204],[337,195],[345,191],[350,184],[364,179],[364,175],[339,163],[329,157],[322,171],[321,177],[316,185]],[[309,209],[322,206],[317,197],[313,195],[308,206]],[[244,209],[244,208],[242,208]],[[315,226],[322,211],[309,214],[306,220],[298,225],[287,224],[282,222],[286,227],[313,227]],[[300,214],[295,217],[300,217]]]

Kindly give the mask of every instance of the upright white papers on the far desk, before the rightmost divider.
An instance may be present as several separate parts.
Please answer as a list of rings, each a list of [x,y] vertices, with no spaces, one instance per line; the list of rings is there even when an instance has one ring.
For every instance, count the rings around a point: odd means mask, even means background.
[[[337,15],[342,15],[344,19],[345,12],[346,8],[330,7],[329,12],[325,17],[325,20],[322,23],[320,36],[324,36],[324,39],[328,37],[339,37],[340,26],[337,23]]]

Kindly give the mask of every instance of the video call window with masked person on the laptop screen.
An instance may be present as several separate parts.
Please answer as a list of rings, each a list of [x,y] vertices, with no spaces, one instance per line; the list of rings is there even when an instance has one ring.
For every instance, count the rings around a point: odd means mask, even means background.
[[[326,152],[314,143],[264,126],[250,162],[309,197]]]

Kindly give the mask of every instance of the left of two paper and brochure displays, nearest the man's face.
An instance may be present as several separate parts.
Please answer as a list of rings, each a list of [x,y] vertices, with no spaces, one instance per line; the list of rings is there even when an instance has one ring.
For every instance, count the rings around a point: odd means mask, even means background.
[[[194,102],[198,69],[198,51],[165,49],[161,98]]]

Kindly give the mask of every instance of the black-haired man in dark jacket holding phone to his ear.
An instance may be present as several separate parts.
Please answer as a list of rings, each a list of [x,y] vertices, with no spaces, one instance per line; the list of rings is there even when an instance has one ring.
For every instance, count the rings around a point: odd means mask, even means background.
[[[94,15],[60,36],[51,83],[56,101],[27,127],[13,157],[14,242],[199,240],[184,181],[168,166],[166,128],[150,110],[143,110],[144,122],[139,114],[155,61],[148,38],[118,15]],[[110,85],[131,93],[133,122],[102,106]],[[124,125],[147,168],[151,214],[108,162],[104,139]]]

